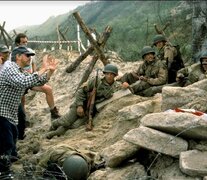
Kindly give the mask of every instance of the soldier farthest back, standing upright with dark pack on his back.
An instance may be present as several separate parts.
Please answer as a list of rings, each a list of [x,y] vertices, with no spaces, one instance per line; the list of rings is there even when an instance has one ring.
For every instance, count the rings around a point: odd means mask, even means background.
[[[177,71],[184,67],[178,46],[172,46],[161,34],[153,38],[153,45],[158,49],[157,57],[168,67],[168,83],[176,82]]]

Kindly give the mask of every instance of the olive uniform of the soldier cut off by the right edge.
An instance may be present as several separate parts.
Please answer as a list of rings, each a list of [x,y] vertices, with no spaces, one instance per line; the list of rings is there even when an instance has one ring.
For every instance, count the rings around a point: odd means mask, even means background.
[[[177,77],[183,77],[180,80],[185,81],[184,86],[187,86],[207,78],[207,72],[203,70],[202,65],[200,63],[196,63],[191,66],[180,69],[177,72]]]

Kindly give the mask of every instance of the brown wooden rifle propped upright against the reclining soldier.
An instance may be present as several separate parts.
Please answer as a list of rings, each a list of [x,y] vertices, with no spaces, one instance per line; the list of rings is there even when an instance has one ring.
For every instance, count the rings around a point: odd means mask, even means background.
[[[86,124],[86,130],[91,131],[93,129],[93,110],[95,105],[95,99],[96,99],[96,90],[98,86],[98,71],[96,70],[96,77],[94,81],[93,90],[90,92],[88,103],[87,103],[87,109],[88,109],[88,122]]]

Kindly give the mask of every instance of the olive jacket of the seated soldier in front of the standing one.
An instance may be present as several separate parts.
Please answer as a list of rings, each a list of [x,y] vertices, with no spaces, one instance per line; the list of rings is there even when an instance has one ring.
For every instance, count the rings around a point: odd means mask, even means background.
[[[156,59],[153,62],[144,61],[137,70],[138,76],[147,77],[150,85],[163,85],[167,83],[167,67],[161,61]]]

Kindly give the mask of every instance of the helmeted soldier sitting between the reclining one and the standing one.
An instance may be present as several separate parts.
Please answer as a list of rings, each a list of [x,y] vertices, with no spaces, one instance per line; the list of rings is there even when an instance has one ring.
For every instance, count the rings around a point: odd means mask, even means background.
[[[134,94],[151,96],[145,93],[153,86],[160,86],[167,83],[167,68],[155,58],[155,50],[150,46],[145,46],[141,51],[143,63],[136,72],[124,74],[120,80],[124,88],[130,88]]]

